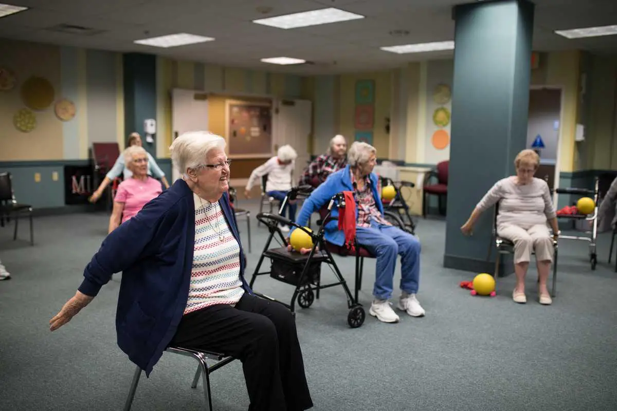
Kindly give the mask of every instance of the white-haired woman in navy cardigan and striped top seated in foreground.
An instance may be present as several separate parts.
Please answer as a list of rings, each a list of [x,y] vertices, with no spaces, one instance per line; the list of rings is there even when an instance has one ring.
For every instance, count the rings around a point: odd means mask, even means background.
[[[222,352],[242,362],[249,410],[309,409],[294,318],[244,279],[224,150],[225,139],[207,132],[173,141],[183,178],[107,236],[50,328],[70,321],[122,271],[117,341],[146,375],[170,345]]]

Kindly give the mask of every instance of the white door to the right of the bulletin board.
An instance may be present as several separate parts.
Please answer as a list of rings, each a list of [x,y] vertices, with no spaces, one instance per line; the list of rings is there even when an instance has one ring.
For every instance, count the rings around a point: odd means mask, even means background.
[[[292,185],[310,160],[309,135],[312,127],[312,105],[309,100],[276,100],[273,110],[273,151],[289,144],[298,153]]]

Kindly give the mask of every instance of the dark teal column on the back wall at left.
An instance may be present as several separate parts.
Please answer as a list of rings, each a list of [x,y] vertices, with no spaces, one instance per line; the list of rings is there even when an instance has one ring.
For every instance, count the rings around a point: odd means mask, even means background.
[[[156,119],[156,57],[151,54],[123,55],[125,138],[138,132],[144,149],[156,158],[156,137],[146,142],[144,120]]]

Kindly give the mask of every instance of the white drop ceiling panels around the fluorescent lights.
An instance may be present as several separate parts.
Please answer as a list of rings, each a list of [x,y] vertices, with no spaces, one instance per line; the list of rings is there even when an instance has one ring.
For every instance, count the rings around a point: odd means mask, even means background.
[[[449,57],[452,51],[394,54],[379,47],[452,40],[457,0],[0,0],[30,10],[0,18],[2,38],[116,52],[144,52],[177,60],[302,75],[384,70],[405,62]],[[617,24],[615,0],[536,0],[536,51],[582,49],[617,55],[617,35],[566,39],[553,30]],[[366,18],[283,30],[257,18],[337,7]],[[269,12],[263,11],[270,9]],[[60,24],[93,35],[48,30]],[[408,31],[392,36],[393,30]],[[160,49],[133,43],[173,33],[215,41]],[[314,65],[277,66],[267,57],[295,57]]]

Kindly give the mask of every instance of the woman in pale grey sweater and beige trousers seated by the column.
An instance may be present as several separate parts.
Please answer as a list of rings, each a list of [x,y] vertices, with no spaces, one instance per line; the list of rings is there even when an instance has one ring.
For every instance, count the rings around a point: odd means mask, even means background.
[[[516,287],[512,299],[516,303],[526,303],[525,275],[531,260],[531,252],[536,251],[536,264],[540,279],[540,304],[551,304],[546,287],[550,264],[553,261],[553,240],[557,240],[559,227],[557,215],[550,196],[547,182],[534,177],[540,157],[533,150],[523,150],[514,161],[516,176],[505,177],[493,185],[484,198],[476,205],[470,218],[463,224],[463,234],[470,235],[479,215],[499,201],[497,214],[497,235],[514,243],[514,270]],[[547,221],[553,229],[549,233]]]

